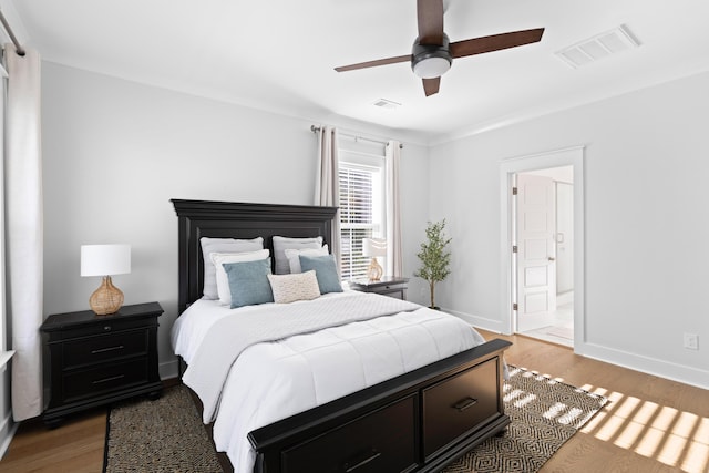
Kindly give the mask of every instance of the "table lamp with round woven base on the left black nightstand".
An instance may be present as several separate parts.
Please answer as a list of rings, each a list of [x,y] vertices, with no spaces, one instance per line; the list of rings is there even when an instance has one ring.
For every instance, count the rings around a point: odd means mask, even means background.
[[[102,276],[103,281],[89,298],[97,316],[115,313],[123,306],[123,292],[111,281],[112,275],[131,273],[131,245],[82,245],[81,276]]]

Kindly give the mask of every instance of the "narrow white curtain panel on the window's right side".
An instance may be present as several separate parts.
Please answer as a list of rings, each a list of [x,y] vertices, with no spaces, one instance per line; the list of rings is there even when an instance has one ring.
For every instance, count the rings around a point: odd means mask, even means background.
[[[401,204],[399,202],[399,163],[401,143],[387,142],[387,274],[403,275],[403,251],[401,249]]]

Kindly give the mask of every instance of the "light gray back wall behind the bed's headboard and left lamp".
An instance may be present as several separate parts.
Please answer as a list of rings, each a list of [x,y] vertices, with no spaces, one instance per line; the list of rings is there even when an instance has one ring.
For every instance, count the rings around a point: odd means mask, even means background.
[[[165,309],[161,374],[175,376],[177,217],[169,199],[311,204],[315,122],[49,62],[42,94],[44,312],[88,309],[100,280],[79,276],[82,244],[131,244],[132,271],[114,284],[125,304],[157,300]],[[404,271],[412,273],[428,215],[428,148],[404,143],[401,167]]]

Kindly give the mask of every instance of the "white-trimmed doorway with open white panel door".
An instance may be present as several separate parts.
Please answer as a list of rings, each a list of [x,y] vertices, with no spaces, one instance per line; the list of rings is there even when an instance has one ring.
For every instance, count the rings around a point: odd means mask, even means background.
[[[583,147],[573,147],[501,163],[501,309],[507,333],[584,343],[583,156]],[[531,184],[520,188],[525,179]],[[518,213],[521,198],[532,206]]]

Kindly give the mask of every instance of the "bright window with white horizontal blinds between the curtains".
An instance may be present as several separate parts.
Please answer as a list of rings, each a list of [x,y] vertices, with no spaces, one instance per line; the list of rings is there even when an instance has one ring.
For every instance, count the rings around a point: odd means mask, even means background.
[[[362,238],[384,235],[384,158],[340,150],[340,275],[367,277]]]

